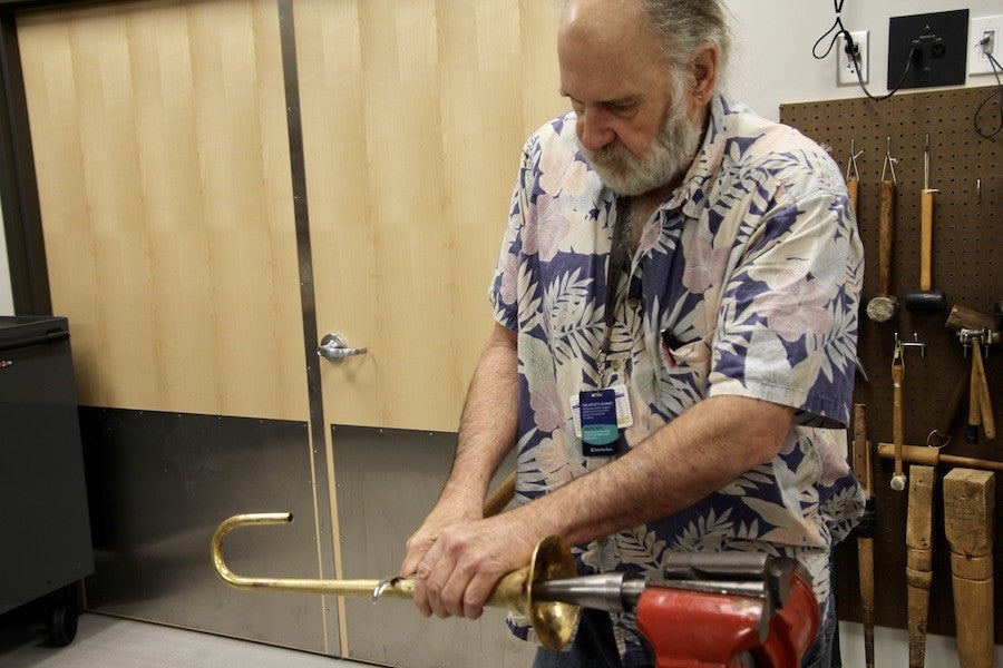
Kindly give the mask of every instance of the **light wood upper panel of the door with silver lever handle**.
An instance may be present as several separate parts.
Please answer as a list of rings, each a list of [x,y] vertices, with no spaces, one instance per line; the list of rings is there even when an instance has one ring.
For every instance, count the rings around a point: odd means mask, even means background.
[[[295,7],[329,422],[455,431],[526,135],[565,107],[557,2]]]

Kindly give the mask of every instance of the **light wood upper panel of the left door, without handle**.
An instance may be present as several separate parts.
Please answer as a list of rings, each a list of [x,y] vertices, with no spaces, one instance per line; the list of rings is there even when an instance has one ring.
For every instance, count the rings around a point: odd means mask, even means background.
[[[304,420],[274,2],[30,13],[18,37],[81,403]]]

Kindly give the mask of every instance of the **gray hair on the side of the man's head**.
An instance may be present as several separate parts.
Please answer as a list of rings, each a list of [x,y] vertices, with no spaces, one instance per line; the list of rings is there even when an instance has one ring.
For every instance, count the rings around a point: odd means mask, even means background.
[[[651,29],[673,69],[685,69],[702,42],[718,48],[718,69],[728,65],[731,31],[722,0],[641,0]]]

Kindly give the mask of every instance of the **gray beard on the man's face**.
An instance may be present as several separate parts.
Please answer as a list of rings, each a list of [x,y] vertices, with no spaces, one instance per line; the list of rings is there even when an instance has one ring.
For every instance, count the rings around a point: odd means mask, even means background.
[[[578,147],[607,187],[617,195],[635,197],[683,176],[697,155],[701,135],[683,105],[673,105],[658,137],[641,156],[620,145],[590,150],[578,141]]]

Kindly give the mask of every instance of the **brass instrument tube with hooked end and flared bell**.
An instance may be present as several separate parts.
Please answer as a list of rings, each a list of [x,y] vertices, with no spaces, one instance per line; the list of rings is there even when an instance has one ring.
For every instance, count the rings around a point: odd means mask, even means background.
[[[317,580],[303,578],[250,578],[230,570],[223,559],[223,539],[237,527],[261,524],[288,524],[288,512],[263,512],[233,515],[220,523],[213,534],[213,566],[224,582],[237,589],[273,589],[303,593],[333,596],[367,596],[377,598],[410,599],[415,595],[415,580],[391,578],[387,580]],[[534,596],[535,582],[558,578],[573,578],[577,573],[571,550],[564,541],[551,536],[536,546],[529,566],[504,576],[495,586],[487,605],[505,608],[529,618],[539,644],[558,650],[571,640],[578,618],[578,606],[555,601],[541,601]]]

